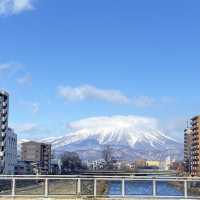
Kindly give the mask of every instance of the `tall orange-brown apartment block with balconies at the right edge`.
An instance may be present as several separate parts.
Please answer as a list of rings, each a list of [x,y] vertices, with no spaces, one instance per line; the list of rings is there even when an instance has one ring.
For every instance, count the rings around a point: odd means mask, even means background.
[[[200,176],[200,116],[196,116],[191,119],[191,126],[191,175]]]

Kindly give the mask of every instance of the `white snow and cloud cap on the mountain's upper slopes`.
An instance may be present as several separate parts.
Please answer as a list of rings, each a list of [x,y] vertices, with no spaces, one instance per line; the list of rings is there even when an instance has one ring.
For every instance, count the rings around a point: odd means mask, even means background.
[[[160,148],[166,143],[176,142],[159,130],[154,118],[139,116],[93,117],[70,123],[71,133],[51,140],[55,147],[95,141],[99,145],[124,145],[131,148],[137,144],[148,144]]]

